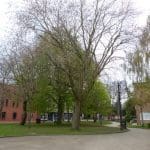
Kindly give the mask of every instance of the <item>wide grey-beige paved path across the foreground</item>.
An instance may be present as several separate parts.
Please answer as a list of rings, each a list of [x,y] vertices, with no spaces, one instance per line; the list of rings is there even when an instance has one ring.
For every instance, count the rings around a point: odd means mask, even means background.
[[[0,138],[0,150],[150,150],[150,130],[109,135]]]

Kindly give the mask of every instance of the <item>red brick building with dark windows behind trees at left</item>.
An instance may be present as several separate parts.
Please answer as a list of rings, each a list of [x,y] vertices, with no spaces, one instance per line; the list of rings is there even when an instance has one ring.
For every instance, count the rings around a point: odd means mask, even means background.
[[[23,113],[23,105],[21,100],[15,100],[17,96],[15,95],[15,86],[13,85],[6,85],[5,92],[1,90],[0,93],[3,94],[3,105],[2,111],[0,115],[0,122],[21,122],[22,113]],[[1,94],[2,95],[2,94]],[[0,95],[0,96],[1,96]],[[31,121],[35,121],[37,118],[36,113],[30,114]],[[27,120],[29,118],[29,114]]]

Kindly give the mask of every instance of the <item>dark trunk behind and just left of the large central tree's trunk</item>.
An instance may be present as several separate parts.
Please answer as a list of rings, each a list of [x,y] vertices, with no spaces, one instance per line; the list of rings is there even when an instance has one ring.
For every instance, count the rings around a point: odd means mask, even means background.
[[[64,117],[64,101],[60,98],[58,100],[58,119],[57,124],[61,125]]]

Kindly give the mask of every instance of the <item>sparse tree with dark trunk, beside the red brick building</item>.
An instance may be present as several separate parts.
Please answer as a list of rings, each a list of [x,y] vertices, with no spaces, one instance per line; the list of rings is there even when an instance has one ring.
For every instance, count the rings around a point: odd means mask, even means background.
[[[24,125],[29,117],[29,122],[31,121],[30,104],[32,97],[36,91],[36,63],[34,59],[34,51],[30,47],[25,45],[19,45],[18,39],[13,41],[13,47],[9,52],[8,64],[11,68],[12,80],[16,85],[17,97],[19,97],[20,102],[23,103],[23,114],[21,125]],[[17,99],[16,97],[16,99]]]

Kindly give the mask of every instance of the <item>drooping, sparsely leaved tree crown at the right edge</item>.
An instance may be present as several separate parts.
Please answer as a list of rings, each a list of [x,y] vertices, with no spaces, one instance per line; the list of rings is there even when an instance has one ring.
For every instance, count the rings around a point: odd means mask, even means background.
[[[138,36],[138,43],[132,52],[127,53],[125,69],[133,76],[133,82],[145,82],[150,78],[150,17]]]

